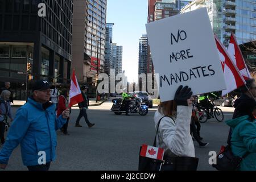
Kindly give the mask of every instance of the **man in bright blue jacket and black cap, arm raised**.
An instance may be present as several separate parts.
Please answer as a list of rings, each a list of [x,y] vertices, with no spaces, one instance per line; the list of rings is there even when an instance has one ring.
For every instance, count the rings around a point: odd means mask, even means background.
[[[56,152],[56,130],[69,117],[69,109],[56,118],[55,106],[49,102],[50,84],[38,80],[28,102],[16,112],[5,145],[0,151],[0,168],[5,169],[11,152],[20,144],[24,166],[30,171],[47,171]]]

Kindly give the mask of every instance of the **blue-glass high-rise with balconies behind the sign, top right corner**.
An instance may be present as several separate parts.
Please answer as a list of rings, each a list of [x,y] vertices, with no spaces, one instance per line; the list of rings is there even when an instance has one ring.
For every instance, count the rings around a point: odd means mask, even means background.
[[[181,9],[181,13],[206,7],[212,28],[228,46],[231,32],[238,44],[256,40],[256,1],[251,0],[195,0]]]

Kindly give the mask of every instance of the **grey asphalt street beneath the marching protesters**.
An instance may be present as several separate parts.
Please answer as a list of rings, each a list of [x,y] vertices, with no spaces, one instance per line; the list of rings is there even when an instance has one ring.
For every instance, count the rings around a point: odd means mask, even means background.
[[[152,144],[155,135],[154,112],[150,109],[146,116],[131,114],[115,115],[110,112],[109,100],[101,106],[92,106],[88,110],[90,122],[96,125],[88,128],[81,119],[81,128],[75,127],[79,110],[72,109],[68,132],[63,135],[57,131],[57,159],[50,170],[85,170],[85,171],[136,171],[138,169],[139,146]],[[14,113],[17,108],[14,108]],[[225,120],[232,118],[233,108],[221,107]],[[200,148],[195,142],[196,157],[199,158],[199,170],[214,170],[209,165],[209,151],[220,150],[226,144],[229,127],[225,122],[210,119],[201,123],[201,137],[209,145]],[[19,146],[15,148],[6,168],[9,170],[27,170],[23,166]]]

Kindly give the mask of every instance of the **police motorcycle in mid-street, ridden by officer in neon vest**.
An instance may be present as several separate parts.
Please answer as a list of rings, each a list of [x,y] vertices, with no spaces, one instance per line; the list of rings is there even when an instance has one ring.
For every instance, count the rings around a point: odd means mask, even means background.
[[[123,103],[122,98],[115,98],[112,100],[113,106],[111,111],[117,115],[122,113],[126,113],[125,104]],[[148,107],[146,105],[142,105],[142,99],[139,97],[131,97],[129,102],[129,110],[128,113],[139,113],[141,115],[147,115]]]

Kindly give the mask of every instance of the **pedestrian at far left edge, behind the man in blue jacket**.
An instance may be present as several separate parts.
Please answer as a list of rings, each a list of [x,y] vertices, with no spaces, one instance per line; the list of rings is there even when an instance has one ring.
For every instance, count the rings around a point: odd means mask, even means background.
[[[8,125],[7,118],[9,117],[13,121],[10,96],[11,92],[9,90],[3,90],[0,95],[0,138],[2,144],[5,143],[5,127]]]

